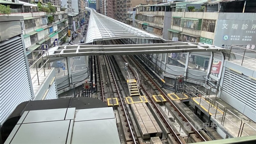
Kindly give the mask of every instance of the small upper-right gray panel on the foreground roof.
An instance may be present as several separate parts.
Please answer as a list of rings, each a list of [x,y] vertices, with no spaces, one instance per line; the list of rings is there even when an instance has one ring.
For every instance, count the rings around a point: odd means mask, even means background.
[[[75,121],[115,118],[112,107],[76,110]]]

